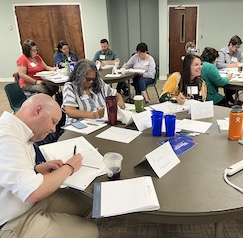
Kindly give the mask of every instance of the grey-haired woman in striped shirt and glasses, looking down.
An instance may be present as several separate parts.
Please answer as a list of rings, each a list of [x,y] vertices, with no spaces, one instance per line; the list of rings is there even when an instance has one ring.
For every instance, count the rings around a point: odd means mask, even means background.
[[[78,61],[63,89],[66,125],[79,118],[102,118],[107,96],[116,96],[117,105],[125,108],[121,94],[100,78],[95,63],[86,59]]]

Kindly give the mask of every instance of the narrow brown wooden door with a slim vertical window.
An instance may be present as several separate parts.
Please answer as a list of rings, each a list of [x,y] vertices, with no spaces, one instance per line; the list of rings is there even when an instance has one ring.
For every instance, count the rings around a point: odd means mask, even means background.
[[[197,7],[169,7],[169,73],[182,70],[189,41],[196,44]]]

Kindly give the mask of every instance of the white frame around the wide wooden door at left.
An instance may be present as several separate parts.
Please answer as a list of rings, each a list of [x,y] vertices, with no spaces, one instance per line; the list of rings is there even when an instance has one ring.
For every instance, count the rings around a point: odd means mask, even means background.
[[[19,27],[18,27],[18,21],[17,21],[17,16],[15,14],[15,7],[19,7],[19,6],[53,6],[53,5],[57,5],[57,6],[65,6],[65,5],[76,5],[79,6],[79,10],[80,10],[80,20],[81,20],[81,26],[83,29],[83,42],[84,42],[84,54],[85,56],[87,55],[87,51],[86,51],[86,40],[85,40],[85,34],[84,34],[84,20],[83,20],[83,12],[82,12],[82,8],[81,8],[81,3],[21,3],[21,4],[13,4],[13,15],[14,15],[14,20],[15,20],[15,27],[16,27],[16,31],[17,31],[17,37],[18,37],[18,43],[19,43],[19,49],[20,49],[20,55],[22,54],[22,46],[20,44],[20,34],[19,34]]]

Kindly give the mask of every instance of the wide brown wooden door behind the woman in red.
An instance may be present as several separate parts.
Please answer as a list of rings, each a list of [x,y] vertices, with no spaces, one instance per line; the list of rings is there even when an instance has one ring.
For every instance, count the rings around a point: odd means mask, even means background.
[[[85,58],[79,5],[15,6],[20,44],[35,41],[38,53],[53,66],[57,44],[67,41],[79,59]]]

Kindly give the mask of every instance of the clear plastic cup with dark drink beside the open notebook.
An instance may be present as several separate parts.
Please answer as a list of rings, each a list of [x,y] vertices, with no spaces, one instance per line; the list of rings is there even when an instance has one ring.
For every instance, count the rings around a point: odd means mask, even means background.
[[[122,160],[123,156],[116,152],[108,152],[104,155],[103,161],[109,180],[120,179]]]

